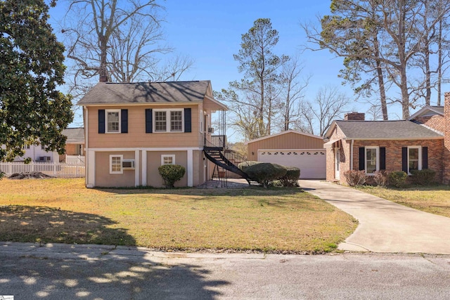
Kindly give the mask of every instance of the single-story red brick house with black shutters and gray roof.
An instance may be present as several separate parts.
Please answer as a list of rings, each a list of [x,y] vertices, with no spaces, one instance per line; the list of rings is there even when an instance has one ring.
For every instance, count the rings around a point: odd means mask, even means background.
[[[326,132],[326,180],[345,183],[345,171],[433,169],[440,183],[450,183],[450,93],[442,106],[426,106],[407,120],[365,121],[351,112]]]

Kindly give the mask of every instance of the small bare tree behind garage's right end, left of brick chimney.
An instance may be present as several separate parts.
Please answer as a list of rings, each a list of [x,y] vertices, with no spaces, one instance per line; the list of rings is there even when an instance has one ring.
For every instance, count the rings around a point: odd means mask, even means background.
[[[335,86],[324,86],[314,102],[304,101],[300,107],[307,132],[323,136],[334,119],[348,111],[349,98]]]

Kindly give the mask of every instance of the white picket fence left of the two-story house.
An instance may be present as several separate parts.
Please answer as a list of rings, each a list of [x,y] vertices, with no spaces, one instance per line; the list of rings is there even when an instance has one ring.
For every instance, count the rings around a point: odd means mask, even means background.
[[[84,162],[0,162],[0,171],[11,176],[14,173],[41,172],[53,177],[84,177]]]

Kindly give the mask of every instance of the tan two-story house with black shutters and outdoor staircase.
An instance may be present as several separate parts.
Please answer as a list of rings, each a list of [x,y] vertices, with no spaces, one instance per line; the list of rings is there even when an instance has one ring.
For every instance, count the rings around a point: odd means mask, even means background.
[[[212,175],[203,148],[211,114],[227,107],[210,81],[99,82],[79,100],[83,107],[86,186],[163,186],[158,167],[179,164],[176,186],[195,186]]]

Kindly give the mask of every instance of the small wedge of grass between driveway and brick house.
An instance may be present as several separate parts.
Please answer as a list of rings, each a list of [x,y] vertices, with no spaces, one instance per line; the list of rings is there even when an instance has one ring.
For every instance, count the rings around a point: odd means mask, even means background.
[[[406,207],[450,218],[449,185],[411,186],[403,189],[366,185],[360,187],[359,190]]]

